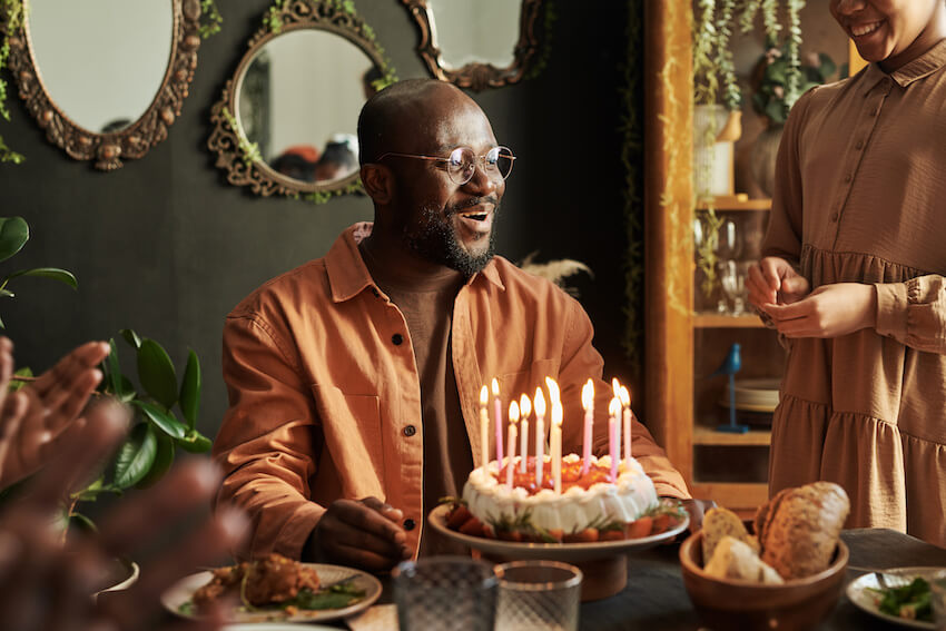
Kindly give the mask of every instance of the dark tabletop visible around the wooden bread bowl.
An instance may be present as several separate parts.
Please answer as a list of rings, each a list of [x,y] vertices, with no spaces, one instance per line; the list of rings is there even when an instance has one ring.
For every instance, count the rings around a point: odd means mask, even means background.
[[[841,533],[850,549],[846,583],[863,571],[853,568],[946,566],[946,550],[887,529],[856,529]],[[700,621],[687,590],[678,556],[679,544],[651,549],[628,560],[628,586],[620,593],[581,605],[580,629],[588,631],[696,631]],[[864,613],[840,597],[820,631],[874,631],[895,629]],[[728,631],[728,630],[718,630]]]

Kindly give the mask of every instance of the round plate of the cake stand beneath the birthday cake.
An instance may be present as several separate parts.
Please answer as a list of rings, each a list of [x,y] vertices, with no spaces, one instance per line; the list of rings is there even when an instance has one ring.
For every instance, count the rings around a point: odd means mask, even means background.
[[[613,556],[615,553],[640,552],[673,539],[687,530],[687,526],[690,524],[690,517],[688,515],[672,529],[666,530],[660,534],[640,539],[597,541],[594,543],[528,543],[471,536],[455,530],[450,530],[446,528],[446,514],[449,512],[450,504],[442,504],[431,511],[431,514],[427,515],[427,522],[441,534],[469,545],[474,550],[506,559],[546,559],[550,561],[562,561],[564,563],[593,561],[595,559]]]

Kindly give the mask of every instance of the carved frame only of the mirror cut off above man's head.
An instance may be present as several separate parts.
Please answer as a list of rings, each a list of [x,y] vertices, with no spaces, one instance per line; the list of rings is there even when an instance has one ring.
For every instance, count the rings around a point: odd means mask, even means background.
[[[427,0],[401,0],[417,22],[421,41],[417,52],[427,65],[431,75],[441,81],[450,81],[461,88],[482,91],[486,88],[501,88],[518,83],[525,76],[529,65],[539,52],[539,38],[535,22],[543,0],[522,0],[519,13],[519,42],[513,49],[513,62],[508,68],[496,68],[492,63],[473,62],[454,69],[444,66],[443,53],[434,37],[434,17]]]

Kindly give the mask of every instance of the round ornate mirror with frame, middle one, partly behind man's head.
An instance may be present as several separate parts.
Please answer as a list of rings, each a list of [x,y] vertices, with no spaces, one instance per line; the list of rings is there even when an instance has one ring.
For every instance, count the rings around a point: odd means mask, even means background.
[[[361,190],[358,112],[394,81],[351,2],[277,4],[211,110],[227,181],[325,201]]]

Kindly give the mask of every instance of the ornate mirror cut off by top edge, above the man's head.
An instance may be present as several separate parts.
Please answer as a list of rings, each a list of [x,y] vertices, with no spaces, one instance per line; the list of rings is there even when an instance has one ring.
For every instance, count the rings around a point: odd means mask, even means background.
[[[480,91],[522,80],[539,49],[543,0],[401,0],[431,75]]]

